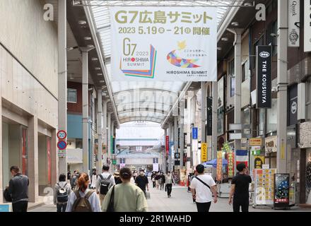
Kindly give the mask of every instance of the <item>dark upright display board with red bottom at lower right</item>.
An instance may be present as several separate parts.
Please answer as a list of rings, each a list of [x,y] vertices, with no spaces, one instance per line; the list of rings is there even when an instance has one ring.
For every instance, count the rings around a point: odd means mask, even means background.
[[[274,207],[289,206],[290,174],[274,174]]]

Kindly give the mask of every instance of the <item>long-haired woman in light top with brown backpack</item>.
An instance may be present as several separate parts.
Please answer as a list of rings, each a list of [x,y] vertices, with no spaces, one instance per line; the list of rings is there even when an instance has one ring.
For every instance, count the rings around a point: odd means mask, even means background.
[[[100,212],[98,196],[92,189],[88,189],[90,177],[82,173],[78,178],[78,189],[71,192],[66,212]]]

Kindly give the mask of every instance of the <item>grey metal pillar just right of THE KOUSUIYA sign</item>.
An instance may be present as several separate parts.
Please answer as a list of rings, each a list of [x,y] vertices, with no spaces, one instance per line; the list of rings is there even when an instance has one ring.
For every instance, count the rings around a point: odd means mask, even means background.
[[[277,103],[277,153],[276,167],[286,173],[287,161],[287,45],[288,45],[288,1],[278,0],[278,103]]]

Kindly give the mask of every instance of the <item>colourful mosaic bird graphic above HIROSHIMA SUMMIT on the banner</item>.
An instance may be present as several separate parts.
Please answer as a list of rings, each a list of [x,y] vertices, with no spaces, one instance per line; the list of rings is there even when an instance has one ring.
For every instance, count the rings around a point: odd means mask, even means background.
[[[177,45],[178,45],[178,50],[182,50],[187,46],[186,41],[178,42]],[[184,68],[184,69],[186,68],[192,69],[192,68],[200,67],[199,65],[194,64],[199,59],[184,59],[184,58],[178,57],[176,53],[176,49],[168,54],[167,59],[170,62],[170,64]]]

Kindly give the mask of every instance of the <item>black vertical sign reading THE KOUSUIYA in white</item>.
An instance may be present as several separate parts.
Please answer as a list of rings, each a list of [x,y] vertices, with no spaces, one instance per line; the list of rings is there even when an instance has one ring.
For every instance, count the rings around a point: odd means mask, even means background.
[[[257,108],[271,108],[272,47],[257,46]]]

